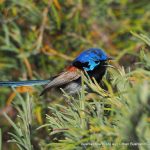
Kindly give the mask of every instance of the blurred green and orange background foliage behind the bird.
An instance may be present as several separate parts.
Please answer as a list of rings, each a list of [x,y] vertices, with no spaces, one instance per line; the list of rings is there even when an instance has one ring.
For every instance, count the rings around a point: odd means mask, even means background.
[[[138,34],[150,36],[149,0],[0,0],[0,80],[48,79],[61,72],[81,51],[99,47],[126,69],[147,46]],[[42,87],[18,88],[34,97],[33,128],[45,122],[47,106],[62,103],[56,94],[38,97]],[[0,128],[3,149],[16,149],[6,141],[16,111],[10,88],[0,88]],[[6,133],[6,134],[5,134]],[[46,140],[47,133],[33,133]],[[42,140],[41,140],[42,139]]]

